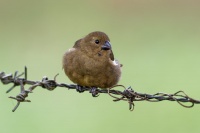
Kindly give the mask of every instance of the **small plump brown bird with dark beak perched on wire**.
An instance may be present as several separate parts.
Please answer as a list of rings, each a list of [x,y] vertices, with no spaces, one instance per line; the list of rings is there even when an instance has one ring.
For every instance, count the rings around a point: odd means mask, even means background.
[[[79,92],[81,87],[109,88],[116,85],[121,66],[114,60],[110,39],[99,31],[76,41],[63,56],[65,74],[79,86]]]

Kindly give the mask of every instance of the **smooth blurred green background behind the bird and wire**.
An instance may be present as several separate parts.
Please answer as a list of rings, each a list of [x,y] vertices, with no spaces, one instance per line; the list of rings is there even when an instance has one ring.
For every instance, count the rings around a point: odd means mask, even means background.
[[[0,0],[0,71],[28,66],[41,80],[62,71],[62,55],[92,31],[104,31],[124,65],[119,84],[138,92],[184,90],[200,99],[200,2],[198,0]],[[1,133],[199,133],[200,106],[176,102],[114,103],[108,95],[37,88],[15,113],[19,93],[0,84]],[[119,88],[120,89],[120,88]]]

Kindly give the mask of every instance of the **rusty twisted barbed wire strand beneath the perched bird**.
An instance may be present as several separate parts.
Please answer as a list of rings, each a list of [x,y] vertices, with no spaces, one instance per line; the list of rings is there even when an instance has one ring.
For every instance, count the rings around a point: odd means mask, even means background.
[[[21,78],[21,76],[24,75],[24,78]],[[6,93],[9,93],[12,91],[15,87],[20,86],[20,93],[13,97],[10,96],[9,98],[14,99],[17,101],[16,106],[13,108],[13,112],[19,107],[21,102],[31,102],[30,100],[27,100],[29,93],[32,93],[33,90],[40,86],[44,89],[47,89],[49,91],[54,90],[56,87],[64,87],[68,89],[76,89],[79,87],[75,84],[65,84],[65,83],[57,83],[56,77],[58,74],[54,77],[53,80],[49,80],[48,77],[43,77],[41,81],[31,81],[27,79],[27,67],[25,67],[25,70],[23,73],[18,75],[18,71],[16,71],[13,74],[5,74],[5,72],[0,72],[0,80],[4,85],[7,84],[13,84],[13,86],[6,91]],[[30,85],[28,89],[25,89],[25,85]],[[116,87],[122,87],[124,90],[114,90],[113,88]],[[78,90],[77,90],[78,91]],[[89,91],[89,93],[92,93],[93,97],[99,96],[100,93],[106,93],[109,94],[109,96],[113,97],[113,101],[127,101],[129,103],[129,110],[134,109],[134,101],[149,101],[149,102],[160,102],[164,100],[168,101],[176,101],[181,106],[186,108],[191,108],[195,104],[200,104],[200,100],[195,100],[194,98],[189,97],[184,91],[178,91],[173,94],[166,94],[166,93],[156,93],[156,94],[146,94],[146,93],[139,93],[134,91],[131,87],[125,88],[123,85],[115,85],[112,88],[108,89],[92,89],[89,87],[83,87],[82,91],[78,92],[84,92]],[[190,103],[191,105],[185,105],[184,103]]]

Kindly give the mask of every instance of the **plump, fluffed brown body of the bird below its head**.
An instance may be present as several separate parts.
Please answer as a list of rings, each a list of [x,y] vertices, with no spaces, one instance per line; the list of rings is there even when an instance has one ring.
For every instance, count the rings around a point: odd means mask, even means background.
[[[63,68],[74,83],[108,88],[119,81],[121,69],[116,61],[98,56],[89,57],[74,49],[69,51],[64,56]]]

